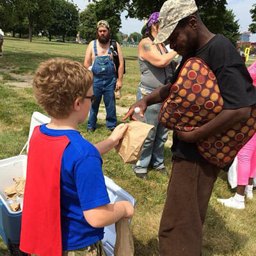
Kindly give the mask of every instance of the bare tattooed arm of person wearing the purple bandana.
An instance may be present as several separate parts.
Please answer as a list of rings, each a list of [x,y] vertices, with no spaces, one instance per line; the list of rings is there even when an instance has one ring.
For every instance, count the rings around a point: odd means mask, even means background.
[[[146,60],[156,67],[166,67],[177,55],[177,52],[175,51],[161,54],[161,52],[158,51],[157,46],[153,45],[147,38],[140,42],[138,52],[141,60]]]

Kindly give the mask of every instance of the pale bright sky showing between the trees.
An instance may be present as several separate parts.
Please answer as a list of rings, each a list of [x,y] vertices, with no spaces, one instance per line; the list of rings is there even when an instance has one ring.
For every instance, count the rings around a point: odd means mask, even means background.
[[[84,10],[86,5],[88,4],[88,0],[73,0],[75,4],[80,8],[81,11]],[[186,1],[186,0],[185,0]],[[236,20],[239,20],[240,31],[247,31],[249,25],[252,23],[252,18],[250,15],[250,9],[252,8],[252,4],[256,3],[255,0],[227,0],[227,8],[228,10],[232,9],[234,14],[236,15]],[[125,15],[127,12],[122,13],[122,28],[120,31],[125,34],[131,34],[132,32],[141,32],[141,28],[143,27],[143,21],[138,19],[125,19]],[[252,42],[256,42],[256,35],[251,35],[250,40]]]

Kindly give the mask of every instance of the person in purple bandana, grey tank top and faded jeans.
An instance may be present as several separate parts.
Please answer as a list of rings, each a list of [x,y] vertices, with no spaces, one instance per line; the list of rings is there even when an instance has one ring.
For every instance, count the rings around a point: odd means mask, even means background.
[[[138,45],[138,60],[141,72],[141,82],[137,92],[137,101],[153,92],[154,89],[168,83],[175,70],[173,58],[177,52],[168,52],[164,44],[152,45],[159,31],[159,12],[150,15],[147,21],[145,38]],[[158,122],[161,103],[147,108],[145,120],[154,125],[146,139],[140,160],[133,165],[137,177],[147,179],[147,169],[151,165],[155,170],[168,174],[164,167],[164,143],[168,138],[169,130]]]

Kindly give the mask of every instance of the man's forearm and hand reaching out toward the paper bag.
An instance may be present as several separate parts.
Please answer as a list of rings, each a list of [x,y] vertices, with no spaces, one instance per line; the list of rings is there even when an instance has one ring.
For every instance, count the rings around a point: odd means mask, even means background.
[[[134,108],[140,108],[140,116],[143,117],[148,106],[163,102],[169,96],[170,86],[171,83],[160,86],[156,88],[156,90],[154,90],[152,93],[148,94],[147,96],[143,97],[143,99],[133,104],[129,108],[129,111],[125,114],[124,118],[122,118],[122,120],[127,119],[129,116],[132,118],[132,120],[137,120],[132,116]]]

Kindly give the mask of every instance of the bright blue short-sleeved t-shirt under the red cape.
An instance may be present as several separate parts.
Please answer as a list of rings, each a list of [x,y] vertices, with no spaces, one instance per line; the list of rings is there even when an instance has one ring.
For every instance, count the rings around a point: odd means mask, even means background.
[[[102,158],[90,142],[75,130],[49,129],[48,136],[67,136],[70,140],[61,159],[60,204],[62,250],[76,250],[101,240],[104,228],[92,227],[83,211],[109,204],[102,173]]]

